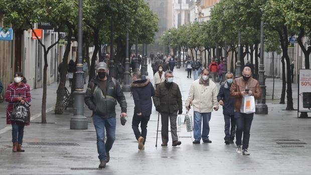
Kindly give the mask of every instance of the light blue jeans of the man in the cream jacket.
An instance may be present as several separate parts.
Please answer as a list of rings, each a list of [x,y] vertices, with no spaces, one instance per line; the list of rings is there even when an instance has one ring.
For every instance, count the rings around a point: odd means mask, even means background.
[[[193,129],[193,136],[195,140],[200,141],[201,137],[202,140],[208,140],[209,139],[209,133],[210,133],[210,125],[209,121],[211,120],[211,112],[201,113],[201,112],[194,112],[194,129]],[[201,125],[203,120],[203,129],[202,129],[202,135],[201,135]]]

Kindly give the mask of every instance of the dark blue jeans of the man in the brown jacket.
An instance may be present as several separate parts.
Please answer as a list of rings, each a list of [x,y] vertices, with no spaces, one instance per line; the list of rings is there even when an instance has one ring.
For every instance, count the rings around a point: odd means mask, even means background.
[[[248,148],[250,137],[250,126],[252,125],[254,113],[245,114],[241,112],[234,112],[234,118],[236,122],[236,145],[242,146],[242,149]],[[243,134],[243,142],[242,142]]]

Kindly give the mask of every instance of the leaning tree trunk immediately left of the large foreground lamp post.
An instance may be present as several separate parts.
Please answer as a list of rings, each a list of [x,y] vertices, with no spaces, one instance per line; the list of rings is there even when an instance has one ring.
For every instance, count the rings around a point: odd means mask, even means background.
[[[55,114],[63,114],[62,110],[62,101],[64,98],[64,89],[65,89],[65,83],[66,83],[66,75],[67,75],[67,68],[68,68],[68,56],[71,49],[71,39],[72,39],[72,28],[67,25],[68,27],[68,38],[67,38],[67,45],[63,56],[63,63],[59,67],[60,72],[60,83],[57,88],[57,97],[56,97],[56,104],[55,104]]]

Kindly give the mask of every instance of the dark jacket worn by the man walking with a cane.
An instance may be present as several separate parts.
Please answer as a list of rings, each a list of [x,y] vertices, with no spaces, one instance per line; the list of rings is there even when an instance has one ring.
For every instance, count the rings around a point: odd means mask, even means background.
[[[156,95],[153,96],[154,106],[160,106],[162,113],[174,113],[183,107],[182,94],[178,84],[170,86],[164,81],[158,85]]]

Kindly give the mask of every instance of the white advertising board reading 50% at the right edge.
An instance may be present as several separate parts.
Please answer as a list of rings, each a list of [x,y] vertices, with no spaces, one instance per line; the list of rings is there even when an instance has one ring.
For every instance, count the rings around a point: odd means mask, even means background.
[[[311,69],[299,69],[298,112],[311,112]]]

